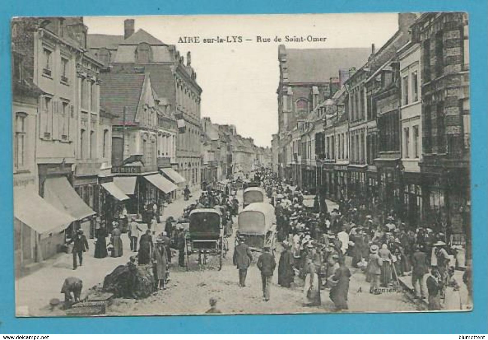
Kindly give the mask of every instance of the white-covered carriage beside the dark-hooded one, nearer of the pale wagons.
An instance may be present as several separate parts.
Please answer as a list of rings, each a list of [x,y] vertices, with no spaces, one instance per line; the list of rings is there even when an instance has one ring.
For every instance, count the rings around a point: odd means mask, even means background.
[[[276,216],[271,204],[260,202],[247,205],[239,213],[238,225],[236,240],[244,237],[244,242],[253,251],[263,251],[268,246],[274,255],[277,245]]]

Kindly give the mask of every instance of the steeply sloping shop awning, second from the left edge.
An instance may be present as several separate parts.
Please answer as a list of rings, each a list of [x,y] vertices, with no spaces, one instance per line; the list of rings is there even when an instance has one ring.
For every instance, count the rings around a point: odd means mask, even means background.
[[[82,220],[96,213],[81,199],[66,177],[48,178],[44,182],[44,199],[59,210]]]

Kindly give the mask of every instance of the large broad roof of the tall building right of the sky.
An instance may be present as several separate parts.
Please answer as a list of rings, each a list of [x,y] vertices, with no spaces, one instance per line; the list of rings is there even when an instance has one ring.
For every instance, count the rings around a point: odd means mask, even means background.
[[[289,82],[329,82],[340,69],[363,66],[369,48],[286,49]]]

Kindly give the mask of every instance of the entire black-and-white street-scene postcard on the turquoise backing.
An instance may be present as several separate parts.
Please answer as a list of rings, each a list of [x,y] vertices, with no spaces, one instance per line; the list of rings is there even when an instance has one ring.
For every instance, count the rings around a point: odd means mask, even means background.
[[[466,13],[11,38],[18,317],[473,308]]]

